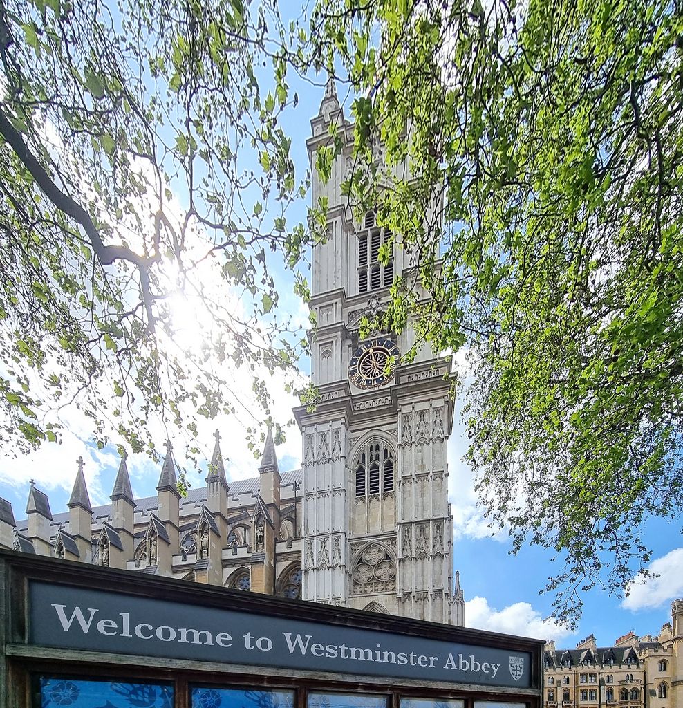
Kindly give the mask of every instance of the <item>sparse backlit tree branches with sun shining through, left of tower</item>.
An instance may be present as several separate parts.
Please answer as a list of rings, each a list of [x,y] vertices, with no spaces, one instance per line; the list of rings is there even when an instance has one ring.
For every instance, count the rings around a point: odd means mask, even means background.
[[[307,239],[278,125],[298,31],[275,0],[0,1],[6,450],[57,440],[70,405],[100,445],[153,451],[160,423],[191,441],[239,409],[242,370],[268,417],[263,378],[299,349],[266,263]],[[203,343],[178,341],[183,308]]]

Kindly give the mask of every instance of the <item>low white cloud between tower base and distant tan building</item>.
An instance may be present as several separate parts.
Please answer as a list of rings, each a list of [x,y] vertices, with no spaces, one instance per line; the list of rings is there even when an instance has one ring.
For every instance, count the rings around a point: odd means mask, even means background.
[[[564,639],[575,634],[570,629],[553,621],[545,621],[540,612],[529,603],[514,603],[495,610],[486,598],[472,598],[465,603],[465,622],[473,629],[486,629],[489,632],[502,632],[517,636],[529,636],[534,639]]]

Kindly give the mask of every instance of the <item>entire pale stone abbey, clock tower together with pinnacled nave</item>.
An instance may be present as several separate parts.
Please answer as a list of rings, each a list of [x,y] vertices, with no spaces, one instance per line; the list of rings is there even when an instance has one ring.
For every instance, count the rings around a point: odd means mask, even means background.
[[[338,122],[345,137],[332,178],[314,178],[313,200],[328,200],[326,243],[313,252],[311,369],[315,411],[294,411],[303,469],[280,476],[270,434],[259,475],[228,484],[219,440],[207,486],[181,499],[169,446],[157,496],[132,498],[125,459],[112,503],[92,509],[79,468],[69,513],[54,518],[31,486],[28,518],[12,534],[0,501],[0,545],[117,568],[302,596],[391,615],[464,624],[453,578],[452,515],[447,501],[447,440],[452,428],[450,361],[401,336],[360,338],[360,321],[381,312],[395,275],[415,279],[374,212],[359,223],[341,183],[351,164],[351,125],[328,83],[311,120],[311,164]],[[405,166],[404,166],[405,167]],[[398,168],[397,168],[398,169]],[[315,171],[314,171],[315,173]]]

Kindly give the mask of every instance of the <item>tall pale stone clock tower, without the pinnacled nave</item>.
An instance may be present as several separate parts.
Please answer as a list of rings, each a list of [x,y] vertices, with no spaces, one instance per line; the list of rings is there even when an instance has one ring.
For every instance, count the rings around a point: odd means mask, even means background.
[[[447,440],[453,407],[449,360],[422,348],[400,362],[413,332],[360,339],[360,321],[381,312],[396,275],[411,277],[409,254],[378,251],[389,234],[368,212],[357,222],[341,183],[351,164],[352,130],[328,82],[307,141],[345,138],[331,179],[313,170],[313,203],[328,200],[326,243],[313,250],[311,375],[315,411],[295,410],[303,436],[302,596],[333,605],[464,624],[464,599],[452,581],[452,516],[447,500]],[[396,362],[391,374],[386,363]]]

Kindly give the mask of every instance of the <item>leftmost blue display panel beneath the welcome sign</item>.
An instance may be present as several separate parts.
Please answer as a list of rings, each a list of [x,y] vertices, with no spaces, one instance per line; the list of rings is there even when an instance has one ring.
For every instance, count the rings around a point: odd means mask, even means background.
[[[173,686],[40,677],[41,708],[173,708]]]

